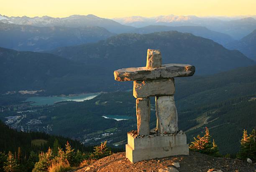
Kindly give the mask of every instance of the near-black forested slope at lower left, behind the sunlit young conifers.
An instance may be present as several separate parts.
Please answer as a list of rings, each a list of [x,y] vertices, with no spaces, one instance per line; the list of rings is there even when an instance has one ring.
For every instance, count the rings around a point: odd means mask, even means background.
[[[72,140],[67,137],[54,136],[41,132],[22,132],[9,128],[6,124],[0,121],[0,152],[17,152],[18,147],[22,150],[22,154],[25,156],[29,156],[31,151],[47,151],[49,147],[54,146],[55,139],[58,140],[61,148],[65,148],[65,144],[69,142],[72,147],[75,149],[79,149],[80,151],[92,151],[92,147],[84,147],[77,140]],[[35,144],[36,139],[41,140]],[[34,144],[33,144],[34,143]]]

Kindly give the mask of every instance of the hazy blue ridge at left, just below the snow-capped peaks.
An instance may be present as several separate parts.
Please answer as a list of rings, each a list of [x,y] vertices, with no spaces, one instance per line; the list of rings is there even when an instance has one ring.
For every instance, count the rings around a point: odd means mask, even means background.
[[[60,46],[76,46],[113,35],[115,34],[98,26],[36,27],[0,22],[0,47],[18,51],[46,51]]]

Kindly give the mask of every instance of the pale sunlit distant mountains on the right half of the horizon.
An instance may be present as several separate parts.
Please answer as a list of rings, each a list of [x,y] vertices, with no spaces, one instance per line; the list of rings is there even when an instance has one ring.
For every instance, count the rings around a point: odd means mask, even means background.
[[[254,17],[254,18],[253,18]],[[113,20],[133,27],[144,27],[147,25],[166,26],[204,26],[210,30],[225,33],[239,40],[248,35],[256,28],[256,16],[246,18],[235,18],[235,20],[220,20],[218,18],[197,17],[195,15],[161,15],[151,18],[132,16],[125,18],[113,18]]]

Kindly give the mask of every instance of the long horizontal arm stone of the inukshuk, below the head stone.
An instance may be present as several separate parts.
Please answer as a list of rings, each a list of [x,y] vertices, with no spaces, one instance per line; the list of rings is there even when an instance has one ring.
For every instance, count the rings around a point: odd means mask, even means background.
[[[162,65],[162,67],[152,69],[148,69],[146,67],[122,68],[114,71],[114,76],[117,81],[140,81],[192,76],[194,73],[195,66],[189,64],[170,63]]]

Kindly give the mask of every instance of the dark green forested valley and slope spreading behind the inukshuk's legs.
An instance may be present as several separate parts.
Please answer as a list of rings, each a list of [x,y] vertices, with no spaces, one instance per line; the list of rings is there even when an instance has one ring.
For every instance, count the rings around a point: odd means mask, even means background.
[[[179,129],[186,131],[188,143],[207,126],[222,154],[238,151],[238,138],[243,129],[250,131],[256,123],[253,117],[256,114],[256,101],[253,98],[256,97],[255,69],[255,66],[248,66],[213,75],[175,79]],[[187,85],[190,87],[187,88]],[[184,88],[187,88],[186,91],[183,91]],[[87,146],[107,140],[112,147],[123,149],[127,142],[126,133],[136,130],[136,104],[132,91],[102,93],[81,102],[11,107],[5,107],[0,116],[3,121],[7,121],[7,116],[20,116],[14,128],[70,137]],[[156,127],[155,113],[152,97],[150,128],[153,130]],[[118,121],[104,117],[116,115],[129,116],[131,119]],[[236,129],[232,129],[231,137],[225,131],[233,126]],[[222,141],[223,137],[227,138],[226,142]],[[231,143],[232,146],[226,147]]]

